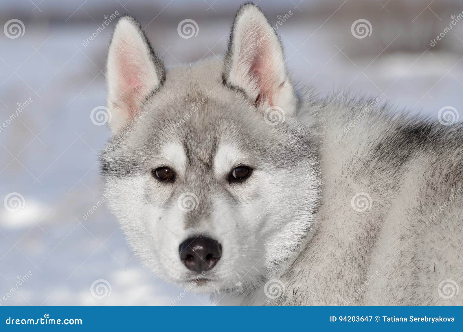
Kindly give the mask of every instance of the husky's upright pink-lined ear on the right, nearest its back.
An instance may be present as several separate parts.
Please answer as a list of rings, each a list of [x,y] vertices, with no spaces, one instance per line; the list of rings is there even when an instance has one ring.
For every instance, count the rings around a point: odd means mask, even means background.
[[[288,115],[296,109],[297,97],[282,44],[254,4],[244,4],[236,14],[222,79],[226,85],[243,91],[260,109],[278,106]]]

